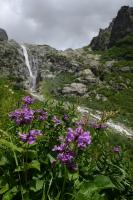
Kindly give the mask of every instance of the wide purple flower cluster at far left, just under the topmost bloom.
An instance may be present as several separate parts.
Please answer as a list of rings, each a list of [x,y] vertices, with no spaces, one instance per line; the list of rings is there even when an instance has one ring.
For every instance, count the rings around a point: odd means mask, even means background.
[[[9,117],[17,125],[30,124],[34,119],[34,111],[30,108],[23,107],[10,112]]]

